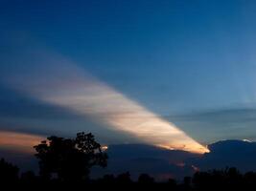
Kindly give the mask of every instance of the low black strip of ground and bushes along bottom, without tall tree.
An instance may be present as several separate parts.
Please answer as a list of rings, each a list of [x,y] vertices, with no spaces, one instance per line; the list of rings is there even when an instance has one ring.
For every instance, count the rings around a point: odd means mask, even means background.
[[[155,182],[150,176],[142,176],[137,181],[128,174],[118,177],[105,176],[101,180],[63,181],[41,180],[38,177],[23,176],[17,180],[0,180],[3,190],[256,190],[256,173],[240,174],[235,168],[225,171],[198,172],[192,178],[180,182],[168,180]],[[2,190],[2,189],[1,189]]]

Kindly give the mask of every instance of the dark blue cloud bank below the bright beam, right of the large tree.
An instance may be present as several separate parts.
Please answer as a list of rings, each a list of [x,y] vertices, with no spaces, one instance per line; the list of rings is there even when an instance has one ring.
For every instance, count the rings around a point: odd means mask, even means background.
[[[141,173],[148,173],[156,180],[182,179],[195,172],[193,167],[186,165],[184,161],[199,156],[143,144],[109,145],[107,155],[107,167],[94,168],[93,177],[102,177],[104,174],[118,175],[128,171],[134,180],[137,180]]]

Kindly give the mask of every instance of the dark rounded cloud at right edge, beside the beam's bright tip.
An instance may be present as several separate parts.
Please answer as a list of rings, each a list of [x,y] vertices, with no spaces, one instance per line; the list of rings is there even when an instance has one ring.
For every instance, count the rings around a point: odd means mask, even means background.
[[[256,171],[256,142],[248,140],[222,140],[208,146],[210,153],[200,158],[187,159],[186,163],[200,170],[236,167],[243,172]]]

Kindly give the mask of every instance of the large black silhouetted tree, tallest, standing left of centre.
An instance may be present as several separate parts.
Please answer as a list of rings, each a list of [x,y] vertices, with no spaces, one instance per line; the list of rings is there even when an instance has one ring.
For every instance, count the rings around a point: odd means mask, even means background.
[[[47,139],[35,146],[43,179],[49,180],[56,175],[63,181],[88,180],[92,166],[106,166],[107,155],[92,134],[82,132],[77,138]]]

